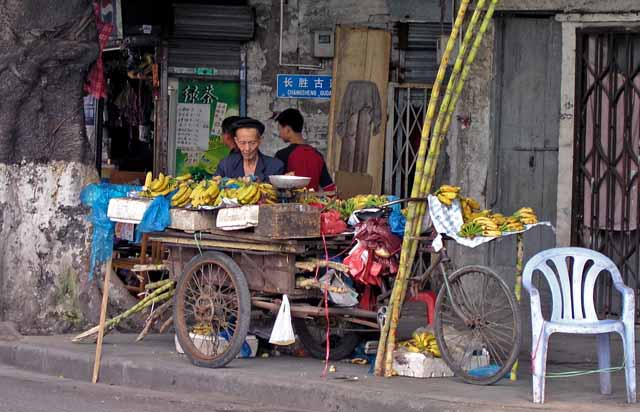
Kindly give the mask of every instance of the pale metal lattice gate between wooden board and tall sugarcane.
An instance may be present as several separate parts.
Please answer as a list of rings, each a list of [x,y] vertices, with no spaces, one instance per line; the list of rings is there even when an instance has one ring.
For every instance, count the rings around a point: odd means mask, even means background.
[[[431,86],[389,85],[384,193],[409,197]]]

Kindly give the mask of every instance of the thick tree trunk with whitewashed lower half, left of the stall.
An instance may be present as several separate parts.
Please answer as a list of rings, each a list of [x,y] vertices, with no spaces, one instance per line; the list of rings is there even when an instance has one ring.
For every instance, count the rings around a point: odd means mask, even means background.
[[[97,53],[89,0],[0,0],[0,320],[22,333],[96,319],[79,193],[97,180],[82,101]]]

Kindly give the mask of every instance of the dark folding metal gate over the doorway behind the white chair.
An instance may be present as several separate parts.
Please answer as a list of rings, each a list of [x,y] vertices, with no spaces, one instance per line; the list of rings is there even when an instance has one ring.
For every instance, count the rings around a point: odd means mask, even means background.
[[[640,312],[640,30],[582,30],[576,52],[572,242],[616,263]],[[598,282],[598,311],[617,312]]]

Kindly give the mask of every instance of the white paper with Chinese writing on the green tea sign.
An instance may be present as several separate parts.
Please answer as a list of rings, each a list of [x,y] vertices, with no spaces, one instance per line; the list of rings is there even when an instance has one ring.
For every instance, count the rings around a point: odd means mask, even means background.
[[[176,147],[187,154],[190,161],[209,147],[208,104],[178,103]]]

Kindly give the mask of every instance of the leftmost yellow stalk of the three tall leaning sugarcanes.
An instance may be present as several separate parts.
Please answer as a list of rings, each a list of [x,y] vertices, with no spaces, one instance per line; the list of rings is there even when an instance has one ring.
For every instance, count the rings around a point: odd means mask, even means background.
[[[414,173],[414,182],[411,188],[411,197],[424,197],[424,192],[420,191],[421,185],[420,180],[423,176],[424,170],[424,161],[427,154],[427,148],[429,146],[429,136],[431,133],[431,124],[433,122],[435,116],[435,109],[438,103],[438,99],[440,97],[440,88],[442,83],[444,82],[444,76],[446,73],[447,65],[449,63],[449,58],[453,52],[455,47],[456,39],[458,38],[458,33],[460,32],[460,28],[462,27],[462,23],[464,22],[464,16],[467,12],[467,8],[469,7],[470,0],[462,0],[460,3],[460,7],[458,9],[458,14],[456,15],[456,20],[453,25],[453,29],[451,30],[451,35],[449,36],[449,40],[447,41],[447,46],[442,55],[442,60],[440,62],[440,67],[438,68],[438,74],[436,75],[436,81],[433,84],[433,88],[431,89],[431,96],[429,98],[429,105],[427,106],[427,114],[424,120],[424,124],[422,127],[422,134],[420,138],[420,146],[418,148],[418,157],[416,160],[416,169]],[[404,274],[404,272],[408,272],[410,269],[407,268],[407,254],[404,251],[409,251],[413,249],[413,245],[416,244],[415,239],[413,238],[414,226],[421,226],[421,222],[417,221],[418,216],[416,216],[417,204],[416,202],[409,202],[407,207],[407,220],[405,225],[405,235],[402,240],[402,250],[403,252],[400,254],[400,264],[399,270],[400,274]],[[420,218],[421,219],[421,218]],[[399,291],[394,287],[391,298],[390,305],[393,307],[393,302],[397,301]],[[380,332],[380,340],[378,342],[378,352],[376,354],[376,364],[375,364],[375,374],[380,376],[383,373],[386,373],[386,369],[383,365],[383,359],[385,358],[385,348],[390,330],[390,322],[386,322]],[[387,368],[388,369],[388,368]]]

